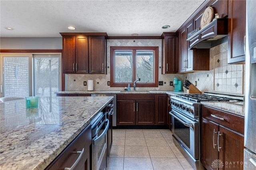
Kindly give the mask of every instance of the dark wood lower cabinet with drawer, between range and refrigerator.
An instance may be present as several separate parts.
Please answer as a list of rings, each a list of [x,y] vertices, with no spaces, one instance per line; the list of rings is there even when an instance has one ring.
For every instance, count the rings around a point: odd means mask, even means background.
[[[239,119],[239,124],[232,123]],[[241,117],[202,106],[202,164],[207,170],[243,169],[244,135],[237,132],[243,127]]]

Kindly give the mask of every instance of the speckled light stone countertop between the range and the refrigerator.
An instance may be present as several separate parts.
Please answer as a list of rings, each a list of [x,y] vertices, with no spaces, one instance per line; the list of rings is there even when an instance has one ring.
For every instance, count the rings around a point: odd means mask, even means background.
[[[244,102],[201,102],[201,104],[244,117]]]

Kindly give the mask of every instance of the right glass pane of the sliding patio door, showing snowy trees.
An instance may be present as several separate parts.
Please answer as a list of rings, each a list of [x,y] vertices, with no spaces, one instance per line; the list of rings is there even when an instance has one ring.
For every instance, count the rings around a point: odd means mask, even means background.
[[[59,58],[34,57],[35,96],[51,96],[59,88]]]

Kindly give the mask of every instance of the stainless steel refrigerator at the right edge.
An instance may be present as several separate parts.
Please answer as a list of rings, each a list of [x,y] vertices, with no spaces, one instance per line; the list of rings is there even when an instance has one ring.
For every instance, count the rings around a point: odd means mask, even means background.
[[[244,170],[256,170],[256,0],[246,1]]]

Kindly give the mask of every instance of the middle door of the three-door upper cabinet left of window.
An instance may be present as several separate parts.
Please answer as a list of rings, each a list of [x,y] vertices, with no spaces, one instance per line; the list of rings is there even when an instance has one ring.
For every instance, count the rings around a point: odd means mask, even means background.
[[[88,37],[76,36],[76,73],[88,73]]]

